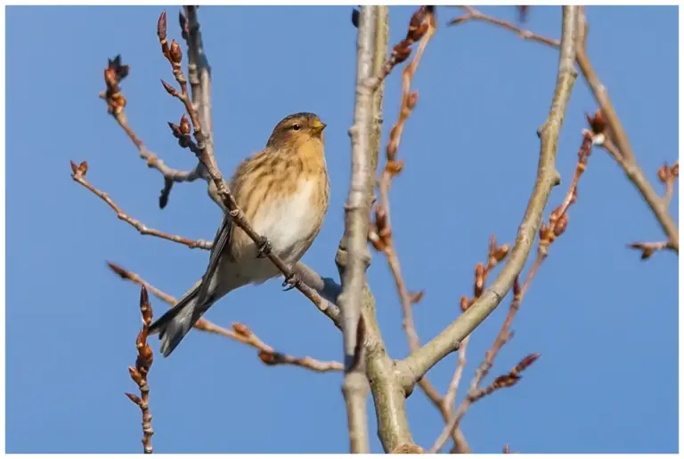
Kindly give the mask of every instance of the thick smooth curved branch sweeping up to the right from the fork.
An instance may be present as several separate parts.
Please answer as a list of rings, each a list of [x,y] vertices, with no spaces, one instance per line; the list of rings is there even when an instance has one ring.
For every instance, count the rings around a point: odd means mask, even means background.
[[[542,212],[549,200],[550,190],[559,182],[555,167],[558,134],[563,125],[567,102],[570,99],[570,93],[577,77],[574,71],[576,37],[578,35],[577,15],[577,7],[566,6],[563,8],[563,37],[561,39],[558,79],[549,117],[541,129],[542,147],[537,178],[508,262],[492,286],[487,288],[472,307],[468,308],[432,341],[403,360],[403,364],[410,369],[410,374],[407,374],[409,378],[405,380],[407,388],[411,388],[436,362],[453,350],[458,349],[460,342],[475,330],[476,326],[479,326],[499,305],[501,299],[509,293],[515,278],[525,266],[527,256],[532,250],[534,236],[542,222]]]

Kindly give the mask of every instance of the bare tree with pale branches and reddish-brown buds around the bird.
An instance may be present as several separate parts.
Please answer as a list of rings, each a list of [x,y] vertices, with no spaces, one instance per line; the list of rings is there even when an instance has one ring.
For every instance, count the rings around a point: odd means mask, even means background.
[[[533,191],[517,231],[517,238],[510,246],[500,245],[494,237],[490,239],[487,259],[484,263],[476,265],[474,293],[472,297],[463,296],[460,300],[462,314],[450,325],[445,326],[444,330],[432,340],[421,344],[412,318],[412,310],[420,302],[423,293],[409,291],[403,280],[393,239],[394,227],[390,219],[390,188],[393,179],[402,172],[404,166],[403,159],[399,157],[399,145],[404,126],[418,103],[418,93],[411,89],[413,77],[419,69],[423,52],[436,34],[438,21],[435,8],[420,7],[411,18],[405,39],[395,44],[392,51],[388,53],[387,7],[364,6],[353,15],[354,25],[358,29],[358,52],[354,124],[350,129],[352,180],[345,205],[346,230],[336,255],[340,285],[330,282],[330,278],[322,278],[303,263],[299,263],[296,267],[289,267],[275,254],[269,254],[269,258],[286,278],[294,274],[298,275],[300,281],[295,284],[297,290],[313,302],[316,308],[342,331],[344,349],[347,354],[353,354],[354,359],[347,361],[345,366],[339,362],[297,358],[273,349],[262,342],[248,326],[242,324],[233,324],[232,329],[227,329],[202,319],[197,325],[199,330],[221,334],[256,348],[259,351],[259,358],[267,365],[289,364],[320,372],[344,370],[342,388],[346,401],[350,449],[353,452],[369,451],[369,415],[366,412],[366,399],[369,391],[375,405],[379,438],[385,451],[403,453],[424,451],[423,447],[416,445],[412,439],[405,407],[405,400],[416,386],[428,396],[444,417],[444,431],[430,450],[441,450],[445,442],[451,438],[454,451],[469,451],[467,439],[460,431],[460,420],[469,407],[495,391],[517,384],[521,373],[540,357],[538,353],[520,356],[517,365],[511,370],[503,371],[491,383],[485,383],[485,377],[493,368],[499,351],[512,336],[511,324],[525,298],[525,293],[549,256],[550,249],[566,231],[568,211],[578,200],[577,190],[592,149],[605,149],[615,159],[616,164],[623,169],[653,211],[655,219],[664,231],[663,242],[636,242],[632,243],[631,247],[638,249],[643,259],[661,250],[679,254],[678,228],[668,209],[674,183],[679,175],[679,164],[675,162],[673,165],[664,165],[658,171],[658,178],[665,185],[664,196],[659,196],[647,180],[647,174],[640,169],[613,103],[591,65],[586,51],[589,38],[584,9],[574,6],[563,7],[562,36],[559,40],[536,35],[513,23],[495,19],[470,7],[464,7],[464,9],[465,15],[451,20],[450,25],[457,26],[468,21],[484,21],[517,33],[525,40],[556,47],[559,49],[559,66],[549,115],[538,130],[541,142],[539,165]],[[235,204],[230,190],[225,186],[223,175],[216,165],[210,103],[211,72],[202,44],[197,7],[184,7],[180,23],[183,39],[188,47],[187,78],[183,72],[181,45],[173,40],[169,43],[167,39],[166,13],[162,13],[159,18],[159,42],[177,84],[170,85],[163,82],[163,85],[167,93],[183,104],[186,114],[183,114],[177,125],[169,123],[169,127],[179,145],[183,149],[191,150],[198,157],[199,162],[195,168],[187,172],[170,169],[136,135],[126,117],[126,98],[122,93],[121,81],[127,76],[128,67],[120,57],[110,60],[105,69],[107,89],[102,93],[102,99],[107,102],[110,114],[134,142],[147,165],[162,174],[164,188],[159,197],[161,208],[168,204],[175,183],[201,179],[208,184],[209,197],[225,212],[231,213],[235,224],[258,241],[260,235],[251,229],[249,221],[244,218],[240,208]],[[587,116],[587,129],[578,136],[578,160],[573,178],[567,185],[565,196],[558,205],[553,207],[548,219],[544,220],[543,214],[549,204],[551,190],[561,184],[560,175],[555,166],[558,135],[566,117],[567,104],[577,76],[575,64],[596,98],[598,109]],[[395,121],[392,120],[387,147],[382,148],[382,120],[391,119],[391,117],[383,116],[384,81],[388,76],[397,73],[398,67],[402,65],[401,111],[399,117]],[[373,181],[380,163],[381,151],[384,151],[385,160],[379,173],[378,198],[375,202]],[[127,215],[106,193],[86,180],[87,168],[88,165],[85,162],[80,165],[72,163],[73,179],[101,197],[118,214],[119,219],[128,222],[142,234],[166,238],[193,248],[210,248],[211,243],[207,241],[191,240],[159,229],[150,229],[142,221]],[[410,354],[405,358],[390,356],[380,334],[375,298],[371,293],[371,286],[366,282],[365,274],[371,259],[368,250],[369,243],[375,249],[377,258],[387,259],[388,267],[395,280],[403,310],[403,326],[410,349]],[[534,246],[536,246],[536,254],[530,261]],[[486,283],[491,273],[500,263],[503,264],[501,271],[487,287]],[[523,274],[525,266],[529,268]],[[149,326],[151,320],[147,292],[170,304],[173,304],[175,299],[160,292],[130,270],[114,263],[110,263],[110,268],[121,278],[142,286],[141,309],[146,325],[137,341],[140,354],[136,367],[131,369],[132,377],[140,386],[142,395],[141,397],[128,395],[128,397],[142,409],[145,419],[143,444],[145,450],[151,452],[149,389],[145,377],[150,370],[152,360],[151,348],[145,340],[146,326]],[[511,291],[509,312],[501,330],[482,363],[477,367],[466,395],[456,405],[456,391],[465,366],[469,337]],[[429,382],[428,371],[456,351],[459,353],[458,365],[453,372],[449,389],[442,395]],[[427,449],[428,446],[425,446],[425,450]]]

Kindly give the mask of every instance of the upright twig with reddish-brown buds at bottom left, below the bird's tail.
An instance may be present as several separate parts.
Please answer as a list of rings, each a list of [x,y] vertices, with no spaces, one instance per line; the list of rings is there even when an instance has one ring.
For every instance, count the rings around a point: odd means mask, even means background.
[[[147,374],[150,373],[152,366],[153,353],[150,344],[147,343],[147,334],[152,323],[152,306],[147,295],[147,289],[142,286],[140,289],[140,312],[142,314],[142,330],[135,340],[135,347],[138,350],[138,358],[135,359],[135,366],[128,366],[128,373],[131,379],[140,389],[140,397],[126,392],[126,397],[135,405],[140,407],[142,414],[142,450],[145,454],[152,453],[152,415],[150,413],[150,386],[147,384]]]

